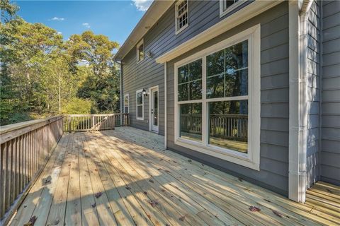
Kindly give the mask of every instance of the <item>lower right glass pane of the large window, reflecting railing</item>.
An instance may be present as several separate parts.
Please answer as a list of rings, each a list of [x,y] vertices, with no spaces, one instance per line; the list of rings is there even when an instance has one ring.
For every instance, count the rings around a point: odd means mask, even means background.
[[[248,152],[248,100],[209,102],[209,144]]]

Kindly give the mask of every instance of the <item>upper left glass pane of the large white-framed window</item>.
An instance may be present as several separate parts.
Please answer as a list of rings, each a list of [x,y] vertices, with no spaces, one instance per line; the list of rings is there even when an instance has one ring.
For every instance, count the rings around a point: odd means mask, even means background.
[[[178,69],[179,101],[202,99],[202,59]]]

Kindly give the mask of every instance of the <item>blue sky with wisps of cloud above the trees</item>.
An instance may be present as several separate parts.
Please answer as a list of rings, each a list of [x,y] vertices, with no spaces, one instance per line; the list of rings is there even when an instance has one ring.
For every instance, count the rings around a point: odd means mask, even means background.
[[[123,1],[13,1],[18,15],[30,23],[43,23],[64,39],[92,30],[123,44],[152,3],[148,0]]]

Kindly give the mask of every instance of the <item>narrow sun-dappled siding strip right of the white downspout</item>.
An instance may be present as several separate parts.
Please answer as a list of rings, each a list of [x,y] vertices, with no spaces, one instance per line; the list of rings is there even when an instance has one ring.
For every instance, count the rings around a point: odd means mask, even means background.
[[[320,5],[313,1],[307,21],[307,186],[319,180]]]

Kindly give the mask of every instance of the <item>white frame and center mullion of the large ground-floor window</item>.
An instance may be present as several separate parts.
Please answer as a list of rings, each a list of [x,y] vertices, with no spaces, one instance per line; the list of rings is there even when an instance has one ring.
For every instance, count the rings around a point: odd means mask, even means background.
[[[238,165],[242,165],[244,167],[249,167],[251,169],[259,170],[260,165],[260,131],[261,131],[261,97],[260,97],[260,88],[261,88],[261,67],[260,67],[260,57],[261,57],[261,25],[255,25],[247,30],[239,32],[237,35],[229,37],[227,40],[223,40],[217,44],[208,47],[207,49],[203,49],[202,51],[193,54],[191,57],[178,61],[174,64],[175,71],[175,79],[174,79],[174,100],[175,100],[175,125],[174,125],[174,134],[175,134],[175,144],[181,145],[185,148],[190,148],[192,150],[197,150],[201,153],[205,153],[208,155],[212,155],[214,157],[218,157],[222,160],[227,160],[229,162],[234,162]],[[217,52],[221,49],[225,49],[226,47],[232,46],[233,44],[237,44],[244,40],[249,40],[248,46],[248,66],[249,66],[249,111],[248,111],[248,125],[249,125],[249,138],[248,138],[248,153],[239,153],[235,150],[227,150],[225,148],[218,148],[212,145],[208,145],[208,125],[206,122],[208,121],[208,105],[206,104],[206,56],[212,54],[213,52]],[[178,102],[178,87],[177,87],[177,73],[178,68],[185,64],[188,64],[196,59],[202,59],[202,76],[203,76],[203,98],[202,100],[196,100],[195,102],[202,102],[202,142],[189,141],[184,138],[179,137],[179,102]],[[220,98],[221,100],[226,99],[228,97]],[[218,100],[218,99],[216,99]],[[193,101],[190,101],[193,102]],[[185,103],[185,102],[181,102]]]

